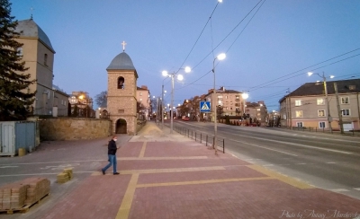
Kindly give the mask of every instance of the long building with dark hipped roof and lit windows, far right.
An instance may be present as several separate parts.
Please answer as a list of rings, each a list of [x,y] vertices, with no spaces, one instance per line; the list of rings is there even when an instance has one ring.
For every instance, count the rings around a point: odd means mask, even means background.
[[[328,98],[324,83],[305,83],[284,96],[279,101],[281,125],[327,130],[331,126],[333,130],[339,130],[339,120],[342,119],[345,131],[359,130],[360,79],[331,81],[325,84]]]

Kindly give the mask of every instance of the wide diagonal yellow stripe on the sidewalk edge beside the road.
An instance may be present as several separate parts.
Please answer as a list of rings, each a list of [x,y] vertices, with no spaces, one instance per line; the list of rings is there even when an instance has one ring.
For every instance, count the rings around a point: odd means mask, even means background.
[[[299,180],[295,180],[291,177],[287,177],[287,176],[284,176],[280,173],[277,173],[275,171],[271,171],[271,170],[268,170],[262,166],[259,166],[259,165],[247,165],[248,168],[251,168],[255,171],[259,171],[269,177],[273,177],[275,178],[276,180],[280,180],[280,181],[283,181],[284,183],[287,183],[289,185],[292,185],[293,187],[296,187],[296,188],[302,188],[302,189],[307,189],[307,188],[314,188],[312,187],[311,185],[305,183],[305,182],[302,182],[302,181],[299,181]]]

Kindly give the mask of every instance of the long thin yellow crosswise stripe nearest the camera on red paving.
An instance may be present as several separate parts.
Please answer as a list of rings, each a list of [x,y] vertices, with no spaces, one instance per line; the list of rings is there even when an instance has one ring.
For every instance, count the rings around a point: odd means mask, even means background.
[[[251,181],[251,180],[274,180],[274,179],[275,178],[273,178],[273,177],[253,177],[253,178],[234,178],[234,179],[221,179],[221,180],[197,180],[197,181],[162,182],[162,183],[138,184],[136,186],[136,188],[169,187],[169,186],[198,185],[198,184],[221,183],[221,182]]]

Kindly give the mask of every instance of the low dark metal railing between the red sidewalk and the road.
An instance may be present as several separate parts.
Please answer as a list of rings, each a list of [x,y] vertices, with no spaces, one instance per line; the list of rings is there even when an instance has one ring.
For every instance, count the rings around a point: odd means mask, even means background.
[[[185,127],[178,127],[175,126],[174,130],[178,133],[180,133],[183,136],[187,136],[193,140],[195,140],[195,142],[199,141],[201,144],[205,144],[206,146],[208,146],[208,144],[212,144],[212,148],[215,149],[214,147],[214,141],[215,141],[215,137],[214,136],[209,136],[207,134],[203,134],[202,132],[196,132],[193,129],[189,129],[189,128],[185,128]],[[218,137],[218,147],[220,147],[222,149],[222,153],[225,153],[225,139],[222,138],[222,140]]]

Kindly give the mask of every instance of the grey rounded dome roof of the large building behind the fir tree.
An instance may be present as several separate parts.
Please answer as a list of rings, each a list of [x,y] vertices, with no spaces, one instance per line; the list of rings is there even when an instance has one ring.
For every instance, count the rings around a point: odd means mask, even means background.
[[[19,32],[21,37],[40,39],[40,41],[45,44],[46,47],[55,53],[54,48],[51,46],[48,35],[46,35],[46,33],[42,31],[38,24],[36,24],[36,22],[34,22],[32,19],[19,21],[15,31]]]

